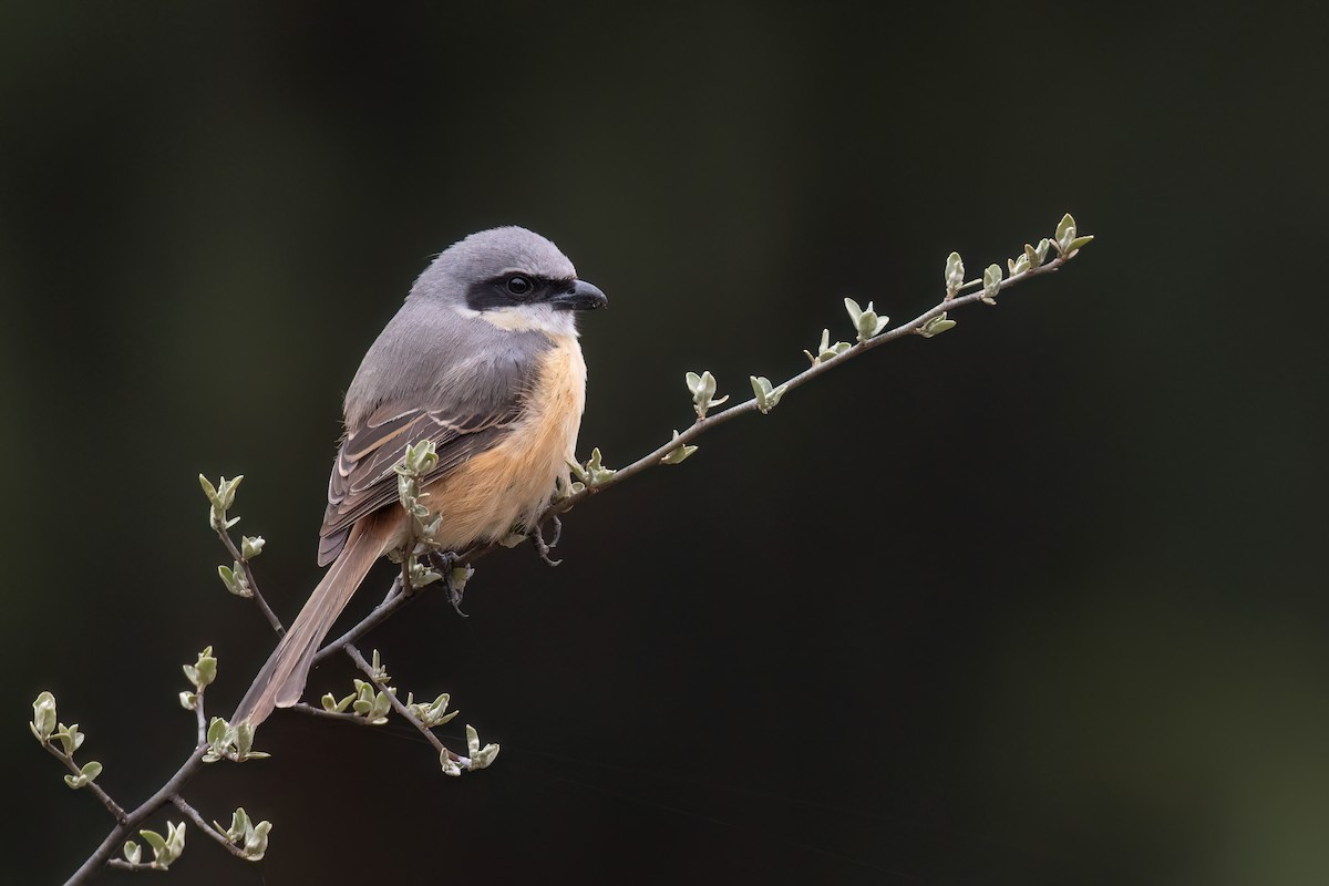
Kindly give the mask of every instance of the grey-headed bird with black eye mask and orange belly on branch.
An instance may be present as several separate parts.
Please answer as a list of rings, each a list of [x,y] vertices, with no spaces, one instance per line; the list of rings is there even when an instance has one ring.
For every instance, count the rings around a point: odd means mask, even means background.
[[[586,402],[575,317],[607,303],[557,246],[517,226],[472,234],[420,274],[346,392],[319,530],[328,570],[233,723],[258,727],[299,701],[338,615],[373,563],[407,542],[396,473],[407,446],[436,446],[420,487],[440,550],[538,530],[558,484],[569,485]]]

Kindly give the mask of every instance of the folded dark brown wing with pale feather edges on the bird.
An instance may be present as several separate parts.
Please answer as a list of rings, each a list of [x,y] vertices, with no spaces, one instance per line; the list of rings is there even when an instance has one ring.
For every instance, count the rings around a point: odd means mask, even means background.
[[[484,410],[461,408],[396,409],[380,406],[363,424],[347,428],[328,481],[328,507],[319,530],[319,565],[331,563],[346,545],[351,525],[397,501],[397,474],[407,446],[432,440],[439,465],[420,485],[453,470],[502,440],[525,414],[525,385],[512,385]]]

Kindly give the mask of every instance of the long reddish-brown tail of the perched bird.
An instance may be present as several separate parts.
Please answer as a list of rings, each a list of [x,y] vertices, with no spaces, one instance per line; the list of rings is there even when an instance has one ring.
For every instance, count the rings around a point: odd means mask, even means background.
[[[381,533],[372,531],[375,521],[361,519],[351,530],[351,538],[340,555],[328,567],[323,580],[314,588],[308,602],[286,636],[276,644],[267,664],[259,671],[250,691],[241,700],[231,723],[249,720],[258,725],[272,713],[272,708],[288,708],[300,700],[310,665],[332,630],[332,623],[351,600],[369,567],[383,553]]]

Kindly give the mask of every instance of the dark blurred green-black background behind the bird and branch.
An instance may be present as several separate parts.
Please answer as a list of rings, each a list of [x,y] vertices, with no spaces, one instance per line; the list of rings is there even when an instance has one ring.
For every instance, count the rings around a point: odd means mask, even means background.
[[[274,639],[195,476],[246,476],[291,619],[342,395],[449,243],[525,224],[609,294],[581,448],[623,465],[688,424],[684,372],[744,399],[851,337],[844,296],[912,317],[948,252],[975,276],[1065,211],[1098,239],[1063,272],[578,507],[557,570],[485,559],[469,619],[428,595],[373,634],[492,769],[279,713],[272,760],[186,792],[274,821],[267,859],[190,833],[170,881],[1329,878],[1329,139],[1294,8],[0,16],[0,879],[61,882],[110,825],[24,728],[40,691],[125,806],[187,753],[206,644],[233,709]]]

